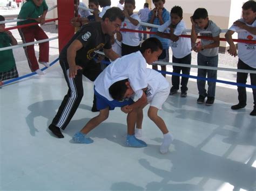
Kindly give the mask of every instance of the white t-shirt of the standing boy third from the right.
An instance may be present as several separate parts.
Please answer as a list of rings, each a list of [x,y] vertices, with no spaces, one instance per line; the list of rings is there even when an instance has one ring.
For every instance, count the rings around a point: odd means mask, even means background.
[[[171,25],[171,20],[168,20],[166,23],[158,27],[159,32],[170,32],[169,26]],[[180,36],[181,34],[187,34],[185,32],[186,24],[181,20],[174,29],[173,34]],[[191,53],[191,39],[179,37],[179,40],[176,42],[171,40],[170,44],[172,48],[172,53],[175,58],[184,58],[186,55]]]

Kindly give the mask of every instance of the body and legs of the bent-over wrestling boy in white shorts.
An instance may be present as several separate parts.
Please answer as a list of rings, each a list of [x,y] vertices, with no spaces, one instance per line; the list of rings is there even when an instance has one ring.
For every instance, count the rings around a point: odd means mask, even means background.
[[[146,81],[148,84],[147,89],[145,90],[147,103],[138,109],[135,137],[142,137],[143,108],[147,104],[150,104],[147,115],[163,133],[164,140],[160,146],[160,152],[164,154],[169,150],[169,146],[173,141],[173,136],[169,133],[164,120],[158,116],[157,113],[158,110],[161,110],[162,105],[169,96],[170,84],[163,75],[150,68],[146,69]]]

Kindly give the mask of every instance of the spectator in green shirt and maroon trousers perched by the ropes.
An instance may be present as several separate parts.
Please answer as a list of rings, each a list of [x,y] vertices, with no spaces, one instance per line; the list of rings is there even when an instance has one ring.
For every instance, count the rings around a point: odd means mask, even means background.
[[[48,6],[45,3],[45,0],[27,0],[26,3],[19,11],[18,19],[28,19],[24,21],[17,22],[17,25],[25,25],[30,23],[36,23],[33,26],[26,26],[21,29],[18,29],[19,34],[21,35],[23,43],[30,43],[36,40],[48,39],[48,36],[45,34],[43,29],[38,25],[43,25],[45,23],[45,16],[48,11]],[[43,75],[41,69],[37,62],[34,45],[24,46],[24,51],[26,58],[28,59],[29,67],[32,72],[36,72],[39,75]],[[39,44],[39,63],[43,64],[46,67],[49,65],[49,41]]]

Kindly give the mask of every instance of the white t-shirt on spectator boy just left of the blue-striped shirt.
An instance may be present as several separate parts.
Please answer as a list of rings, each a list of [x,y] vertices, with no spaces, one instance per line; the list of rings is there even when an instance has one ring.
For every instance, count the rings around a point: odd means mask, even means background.
[[[138,20],[138,22],[141,22],[139,15],[138,14],[133,14],[131,15],[133,19]],[[137,26],[133,25],[130,20],[125,19],[124,22],[122,23],[122,29],[131,29],[131,30],[139,30],[139,25]],[[121,32],[122,37],[123,37],[123,43],[125,45],[129,46],[139,46],[140,41],[139,41],[139,33],[138,32]]]

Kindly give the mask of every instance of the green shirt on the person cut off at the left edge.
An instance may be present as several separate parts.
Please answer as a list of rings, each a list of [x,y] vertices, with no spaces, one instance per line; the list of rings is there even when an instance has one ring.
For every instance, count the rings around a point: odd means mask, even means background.
[[[11,38],[5,32],[0,32],[0,48],[11,46]],[[12,49],[0,51],[0,72],[8,72],[15,67]]]

